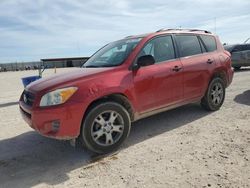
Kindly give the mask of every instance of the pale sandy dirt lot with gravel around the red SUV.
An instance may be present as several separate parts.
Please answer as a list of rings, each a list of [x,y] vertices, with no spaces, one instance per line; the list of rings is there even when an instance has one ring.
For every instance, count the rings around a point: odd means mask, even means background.
[[[220,111],[190,104],[141,120],[103,157],[21,119],[20,78],[35,74],[0,73],[0,187],[250,187],[250,69],[235,73]]]

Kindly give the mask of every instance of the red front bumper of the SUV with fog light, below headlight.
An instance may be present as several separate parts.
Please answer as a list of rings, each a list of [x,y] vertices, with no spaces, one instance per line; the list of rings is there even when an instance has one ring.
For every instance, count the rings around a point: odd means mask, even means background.
[[[31,128],[41,135],[70,140],[79,136],[83,117],[82,104],[70,103],[51,108],[37,108],[19,102],[20,113]]]

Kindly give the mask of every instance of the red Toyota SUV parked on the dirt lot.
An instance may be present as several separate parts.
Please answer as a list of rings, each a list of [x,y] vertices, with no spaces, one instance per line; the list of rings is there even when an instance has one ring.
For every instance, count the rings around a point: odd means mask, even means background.
[[[138,119],[197,101],[218,110],[232,78],[230,53],[217,36],[166,29],[109,43],[79,70],[28,85],[20,111],[44,136],[106,153]]]

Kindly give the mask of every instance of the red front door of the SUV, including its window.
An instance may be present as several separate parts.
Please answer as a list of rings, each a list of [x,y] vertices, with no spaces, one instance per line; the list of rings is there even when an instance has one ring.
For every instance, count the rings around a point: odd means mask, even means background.
[[[155,64],[134,71],[134,87],[140,113],[156,110],[182,100],[182,64],[176,59],[170,35],[150,40],[140,56],[152,55]]]

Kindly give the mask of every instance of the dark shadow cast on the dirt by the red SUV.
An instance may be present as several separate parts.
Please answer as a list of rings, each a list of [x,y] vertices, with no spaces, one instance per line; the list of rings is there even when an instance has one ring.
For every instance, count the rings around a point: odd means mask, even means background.
[[[190,104],[133,123],[131,134],[120,150],[196,121],[210,112]],[[98,162],[93,153],[74,148],[65,141],[26,132],[0,141],[0,182],[3,187],[32,187],[40,183],[58,185],[70,171]],[[119,151],[118,151],[119,152]],[[111,160],[111,159],[110,159]]]

